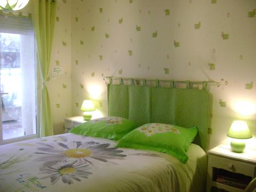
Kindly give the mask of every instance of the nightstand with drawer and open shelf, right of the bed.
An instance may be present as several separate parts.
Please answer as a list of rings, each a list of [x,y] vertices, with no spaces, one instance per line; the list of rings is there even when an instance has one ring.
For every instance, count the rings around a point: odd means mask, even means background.
[[[255,150],[235,153],[229,145],[218,145],[208,151],[207,192],[243,192],[255,172]]]

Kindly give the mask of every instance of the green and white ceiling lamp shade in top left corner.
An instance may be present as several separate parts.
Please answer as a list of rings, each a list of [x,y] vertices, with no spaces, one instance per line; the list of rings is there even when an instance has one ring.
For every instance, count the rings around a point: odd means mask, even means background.
[[[29,0],[1,0],[0,7],[8,11],[17,11],[23,9],[28,3]]]

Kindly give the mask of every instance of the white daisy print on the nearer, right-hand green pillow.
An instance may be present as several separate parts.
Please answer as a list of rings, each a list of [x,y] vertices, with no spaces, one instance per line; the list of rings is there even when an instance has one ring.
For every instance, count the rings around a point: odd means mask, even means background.
[[[144,133],[147,137],[150,137],[158,133],[167,133],[167,132],[180,134],[180,131],[176,129],[173,125],[162,124],[162,123],[148,123],[139,127],[137,131]]]

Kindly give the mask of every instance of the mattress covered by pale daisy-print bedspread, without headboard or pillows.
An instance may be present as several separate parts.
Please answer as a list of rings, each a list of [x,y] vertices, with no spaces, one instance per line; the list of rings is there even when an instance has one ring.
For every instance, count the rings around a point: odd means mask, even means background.
[[[186,164],[160,152],[116,148],[75,134],[0,146],[0,191],[203,191],[206,154],[191,144]]]

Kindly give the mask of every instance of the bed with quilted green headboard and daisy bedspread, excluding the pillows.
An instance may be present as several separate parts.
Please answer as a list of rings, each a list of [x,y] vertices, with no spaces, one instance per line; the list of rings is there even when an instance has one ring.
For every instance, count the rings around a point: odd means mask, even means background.
[[[72,133],[36,138],[0,146],[0,191],[204,191],[205,90],[109,84],[108,102],[109,116],[132,119],[138,126],[196,125],[188,161]]]

